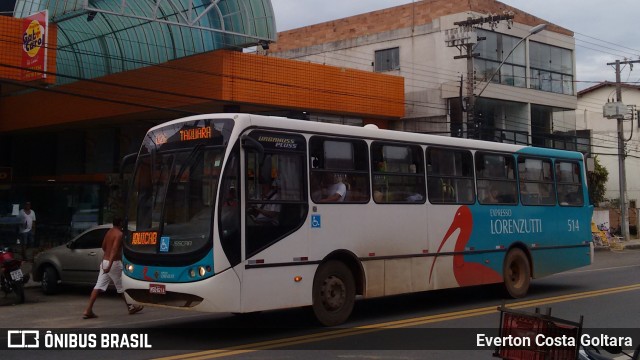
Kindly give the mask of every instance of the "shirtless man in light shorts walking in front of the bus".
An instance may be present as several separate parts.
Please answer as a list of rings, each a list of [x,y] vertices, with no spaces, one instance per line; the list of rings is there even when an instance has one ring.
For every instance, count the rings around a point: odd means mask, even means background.
[[[93,319],[98,317],[93,312],[93,304],[96,302],[98,294],[107,290],[109,280],[113,281],[118,294],[122,295],[122,300],[127,304],[129,314],[133,315],[139,312],[143,307],[127,303],[127,299],[124,297],[124,289],[122,289],[122,219],[113,219],[113,227],[107,231],[104,240],[102,240],[102,250],[104,251],[104,257],[100,264],[100,275],[98,275],[98,281],[91,292],[89,305],[82,314],[82,318]]]

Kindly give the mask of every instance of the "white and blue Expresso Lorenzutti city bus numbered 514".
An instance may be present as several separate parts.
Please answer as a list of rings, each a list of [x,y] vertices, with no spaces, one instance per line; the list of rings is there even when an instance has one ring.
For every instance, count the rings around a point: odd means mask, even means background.
[[[245,313],[503,283],[593,258],[577,152],[248,114],[149,130],[129,192],[126,294]]]

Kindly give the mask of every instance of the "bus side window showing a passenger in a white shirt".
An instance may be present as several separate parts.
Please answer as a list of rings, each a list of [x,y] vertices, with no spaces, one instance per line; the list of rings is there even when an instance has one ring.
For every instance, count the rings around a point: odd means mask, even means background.
[[[314,136],[311,156],[311,199],[316,203],[369,201],[369,157],[363,140]]]

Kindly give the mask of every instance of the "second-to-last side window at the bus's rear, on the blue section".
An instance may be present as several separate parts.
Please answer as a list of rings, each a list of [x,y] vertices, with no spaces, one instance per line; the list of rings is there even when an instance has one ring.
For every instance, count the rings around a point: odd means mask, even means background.
[[[520,199],[523,205],[555,205],[556,192],[551,160],[518,158]]]

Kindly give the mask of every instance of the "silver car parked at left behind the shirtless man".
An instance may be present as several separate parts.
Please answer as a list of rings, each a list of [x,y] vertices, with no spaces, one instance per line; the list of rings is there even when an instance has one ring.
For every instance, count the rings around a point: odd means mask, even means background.
[[[33,280],[40,281],[45,294],[54,294],[59,285],[94,285],[104,255],[102,240],[111,224],[90,228],[65,245],[38,254],[33,264]]]

